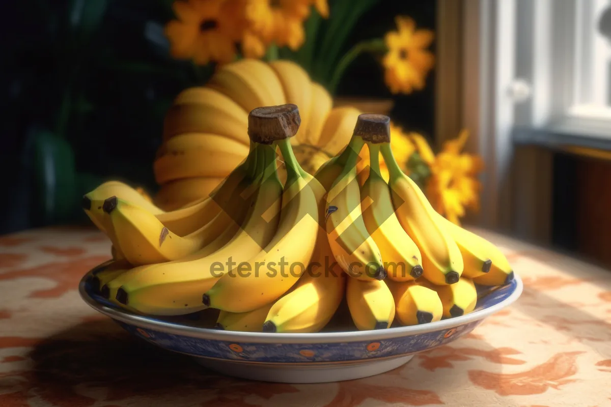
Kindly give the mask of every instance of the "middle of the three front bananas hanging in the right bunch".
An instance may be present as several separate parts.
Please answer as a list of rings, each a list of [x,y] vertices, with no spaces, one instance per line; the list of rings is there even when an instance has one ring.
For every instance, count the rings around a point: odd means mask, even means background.
[[[392,207],[390,189],[380,173],[379,146],[367,143],[370,150],[370,171],[360,189],[365,209],[363,221],[376,242],[388,277],[395,281],[411,281],[422,275],[420,250],[404,231]]]

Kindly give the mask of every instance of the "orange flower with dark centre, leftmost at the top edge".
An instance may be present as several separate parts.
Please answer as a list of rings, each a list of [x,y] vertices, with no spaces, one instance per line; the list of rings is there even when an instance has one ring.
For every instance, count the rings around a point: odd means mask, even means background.
[[[170,53],[199,65],[235,58],[235,24],[224,0],[177,0],[172,5],[178,20],[166,25]]]

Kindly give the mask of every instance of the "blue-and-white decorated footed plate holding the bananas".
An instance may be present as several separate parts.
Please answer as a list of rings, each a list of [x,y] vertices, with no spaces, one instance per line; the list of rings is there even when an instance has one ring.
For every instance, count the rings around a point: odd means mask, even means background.
[[[326,383],[377,375],[395,369],[415,353],[448,344],[474,330],[486,317],[522,294],[518,275],[500,287],[478,286],[470,314],[416,326],[356,331],[340,307],[320,333],[279,334],[215,330],[215,310],[183,317],[148,317],[115,306],[93,292],[85,276],[83,300],[129,333],[161,348],[193,356],[224,375],[282,383]],[[343,304],[345,305],[345,304]]]

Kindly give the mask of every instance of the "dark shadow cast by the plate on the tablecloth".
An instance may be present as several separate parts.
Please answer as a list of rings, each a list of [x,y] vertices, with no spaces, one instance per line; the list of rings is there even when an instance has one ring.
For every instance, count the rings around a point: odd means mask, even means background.
[[[494,356],[498,351],[485,340],[478,340],[477,348],[493,359],[502,358],[500,353]],[[154,405],[172,407],[251,406],[266,405],[272,397],[284,400],[279,405],[357,406],[368,398],[434,405],[452,400],[453,392],[467,380],[453,369],[452,357],[444,356],[446,351],[451,354],[452,348],[437,348],[373,378],[329,384],[259,383],[208,372],[188,356],[157,348],[125,333],[111,320],[100,319],[83,322],[35,345],[29,355],[34,367],[27,373],[27,381],[29,389],[43,400],[61,407],[87,406],[96,400],[114,405],[128,399],[134,405],[148,405],[153,400]],[[445,366],[446,359],[452,369]],[[478,358],[463,359],[463,369],[477,369],[480,362]],[[501,370],[502,364],[488,369],[492,373]]]

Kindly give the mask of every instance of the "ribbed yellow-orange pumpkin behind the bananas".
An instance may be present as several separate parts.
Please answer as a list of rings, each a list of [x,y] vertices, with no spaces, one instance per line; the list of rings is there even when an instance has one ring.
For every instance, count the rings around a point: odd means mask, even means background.
[[[295,62],[223,65],[205,86],[181,92],[166,113],[153,165],[161,185],[156,204],[172,211],[210,195],[249,153],[248,112],[285,103],[299,106],[302,124],[291,144],[310,173],[346,145],[360,113],[333,108],[331,95]],[[284,181],[284,167],[279,176]]]

